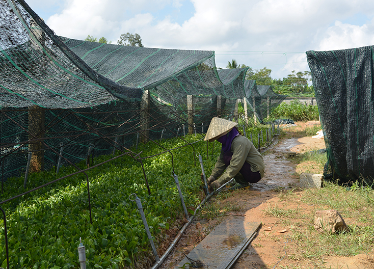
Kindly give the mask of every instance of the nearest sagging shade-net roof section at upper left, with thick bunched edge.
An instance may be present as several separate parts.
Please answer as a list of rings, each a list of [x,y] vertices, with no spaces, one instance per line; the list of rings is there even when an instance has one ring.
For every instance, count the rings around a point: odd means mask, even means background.
[[[23,1],[0,5],[0,106],[88,107],[116,98],[140,100],[88,67]]]

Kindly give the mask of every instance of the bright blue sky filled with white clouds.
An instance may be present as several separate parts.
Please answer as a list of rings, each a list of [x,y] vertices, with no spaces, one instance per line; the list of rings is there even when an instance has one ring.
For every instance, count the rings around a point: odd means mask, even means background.
[[[25,0],[57,35],[214,50],[273,78],[310,71],[305,52],[374,45],[372,0]]]

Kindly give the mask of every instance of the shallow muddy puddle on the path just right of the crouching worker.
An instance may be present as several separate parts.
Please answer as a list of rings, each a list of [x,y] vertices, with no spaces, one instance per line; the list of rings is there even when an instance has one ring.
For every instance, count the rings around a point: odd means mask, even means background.
[[[291,177],[295,173],[295,168],[286,156],[287,153],[291,152],[292,147],[300,144],[302,143],[298,142],[297,138],[289,138],[269,148],[268,151],[272,153],[263,156],[265,175],[259,182],[252,184],[251,190],[271,191],[277,188],[288,189],[290,186],[295,186],[299,179]]]

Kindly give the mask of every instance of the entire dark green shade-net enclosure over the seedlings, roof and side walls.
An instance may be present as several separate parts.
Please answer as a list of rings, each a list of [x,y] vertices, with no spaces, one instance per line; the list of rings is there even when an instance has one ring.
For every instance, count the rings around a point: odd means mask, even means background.
[[[23,0],[0,0],[2,177],[24,174],[29,152],[51,169],[62,148],[64,166],[133,148],[144,129],[155,141],[204,133],[212,117],[238,120],[238,100],[263,119],[272,106],[256,105],[271,91],[259,94],[247,70],[218,70],[214,51],[59,37]]]

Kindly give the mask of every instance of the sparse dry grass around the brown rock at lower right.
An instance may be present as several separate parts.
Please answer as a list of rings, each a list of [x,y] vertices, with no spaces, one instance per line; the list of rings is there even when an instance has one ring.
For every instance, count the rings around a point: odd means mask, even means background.
[[[290,225],[292,254],[289,259],[304,260],[322,265],[326,256],[355,256],[371,251],[374,243],[374,193],[368,187],[342,187],[325,183],[322,189],[307,189],[303,192],[288,191],[278,195],[281,201],[302,203],[301,208],[287,209],[271,205],[264,210]],[[311,207],[312,206],[312,207]],[[308,209],[309,208],[309,209]],[[331,234],[315,231],[314,213],[317,210],[336,209],[349,226],[350,231]],[[301,214],[301,212],[303,212]],[[291,221],[289,221],[291,220]]]

